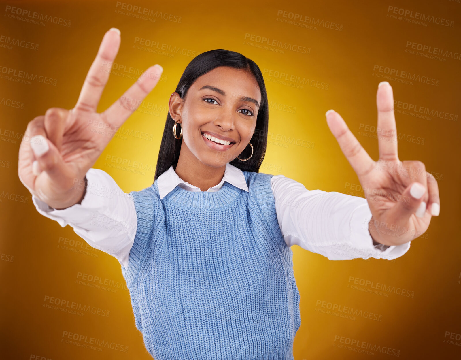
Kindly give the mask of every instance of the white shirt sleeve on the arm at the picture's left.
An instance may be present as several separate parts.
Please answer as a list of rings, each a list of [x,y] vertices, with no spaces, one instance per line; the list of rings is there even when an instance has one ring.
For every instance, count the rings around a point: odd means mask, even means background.
[[[34,195],[32,202],[43,216],[62,227],[71,225],[91,247],[111,254],[126,267],[137,227],[133,198],[103,170],[89,169],[86,177],[81,204],[56,210]]]

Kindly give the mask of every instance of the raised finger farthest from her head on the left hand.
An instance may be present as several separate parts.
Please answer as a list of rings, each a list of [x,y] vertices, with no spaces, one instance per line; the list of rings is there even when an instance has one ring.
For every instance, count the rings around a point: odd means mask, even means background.
[[[112,28],[104,34],[98,53],[85,77],[75,108],[96,112],[102,91],[112,69],[112,62],[120,47],[120,30]]]

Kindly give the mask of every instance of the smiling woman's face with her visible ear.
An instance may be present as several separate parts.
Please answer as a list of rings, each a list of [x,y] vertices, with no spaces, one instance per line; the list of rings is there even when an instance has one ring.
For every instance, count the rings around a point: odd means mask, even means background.
[[[251,154],[248,142],[256,127],[260,103],[261,92],[254,77],[229,66],[219,66],[198,77],[184,100],[176,92],[171,94],[171,117],[180,119],[178,123],[183,127],[181,153],[185,151],[205,165],[220,167],[248,146],[245,155],[239,156],[246,159]],[[224,144],[217,143],[219,140]]]

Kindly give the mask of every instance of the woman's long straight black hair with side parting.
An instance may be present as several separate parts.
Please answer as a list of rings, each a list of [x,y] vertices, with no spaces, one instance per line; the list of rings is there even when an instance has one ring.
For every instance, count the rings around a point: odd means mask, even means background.
[[[241,53],[224,49],[215,49],[201,53],[192,59],[189,65],[187,65],[183,75],[179,79],[176,92],[179,94],[181,99],[184,99],[190,86],[195,82],[195,80],[197,80],[198,77],[218,66],[231,66],[235,69],[246,70],[254,76],[259,85],[261,92],[261,104],[256,118],[256,128],[250,140],[251,145],[253,145],[253,155],[247,161],[241,161],[238,158],[235,158],[230,162],[231,165],[234,165],[242,171],[258,172],[264,159],[264,155],[266,154],[269,109],[267,104],[266,85],[264,84],[260,68],[253,60],[248,59]],[[174,123],[175,121],[171,118],[170,112],[168,111],[168,114],[166,115],[165,129],[163,130],[162,142],[160,143],[154,182],[161,174],[163,174],[163,172],[167,171],[171,165],[173,165],[173,167],[176,167],[177,165],[183,138],[176,139],[173,136],[172,129]],[[179,124],[179,126],[182,125]],[[177,130],[179,130],[179,126],[177,126]],[[246,159],[250,155],[251,147],[248,145],[242,153],[238,155],[238,157]]]

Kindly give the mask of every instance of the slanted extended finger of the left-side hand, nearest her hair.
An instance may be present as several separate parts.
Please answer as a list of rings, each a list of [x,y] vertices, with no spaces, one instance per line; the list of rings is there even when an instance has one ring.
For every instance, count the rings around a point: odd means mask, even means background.
[[[121,126],[127,118],[141,104],[142,100],[149,94],[160,80],[163,68],[155,64],[144,71],[120,98],[108,109],[101,113],[101,116],[113,127]]]

